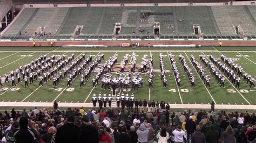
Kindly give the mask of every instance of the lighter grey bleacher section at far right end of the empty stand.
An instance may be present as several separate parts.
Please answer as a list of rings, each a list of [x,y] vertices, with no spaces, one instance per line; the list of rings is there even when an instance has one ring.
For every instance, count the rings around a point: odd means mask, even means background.
[[[233,26],[240,25],[247,34],[256,33],[255,24],[245,6],[211,6],[221,34],[236,34]],[[255,7],[254,7],[255,8]]]

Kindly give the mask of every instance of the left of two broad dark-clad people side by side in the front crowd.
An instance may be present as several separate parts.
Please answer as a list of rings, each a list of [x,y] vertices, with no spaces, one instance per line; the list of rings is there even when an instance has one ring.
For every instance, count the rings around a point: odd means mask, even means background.
[[[74,124],[75,117],[69,116],[68,122],[59,127],[56,133],[56,143],[61,142],[78,142],[80,135],[80,128]]]

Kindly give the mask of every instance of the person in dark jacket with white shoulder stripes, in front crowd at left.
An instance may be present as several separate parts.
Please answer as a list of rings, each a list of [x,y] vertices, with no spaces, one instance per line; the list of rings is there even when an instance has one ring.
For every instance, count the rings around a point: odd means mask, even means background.
[[[30,129],[28,128],[28,125]],[[14,138],[17,143],[33,143],[35,139],[39,137],[39,133],[35,130],[32,124],[29,123],[28,118],[21,117],[21,119],[19,119],[19,127],[20,129],[14,133]]]

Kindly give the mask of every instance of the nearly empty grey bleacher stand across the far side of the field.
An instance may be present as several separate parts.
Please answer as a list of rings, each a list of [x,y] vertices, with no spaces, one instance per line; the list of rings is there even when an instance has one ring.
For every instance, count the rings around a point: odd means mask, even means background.
[[[202,35],[235,35],[235,26],[251,35],[256,34],[255,9],[253,5],[26,8],[2,35],[31,36],[39,26],[46,35],[73,35],[77,25],[83,25],[80,36],[111,35],[115,23],[121,23],[121,35],[152,34],[156,22],[161,34],[194,34],[197,24]]]

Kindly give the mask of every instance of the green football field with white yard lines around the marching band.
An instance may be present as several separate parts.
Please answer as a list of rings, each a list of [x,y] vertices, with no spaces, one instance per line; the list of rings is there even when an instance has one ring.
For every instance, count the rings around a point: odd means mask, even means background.
[[[255,47],[201,47],[201,48],[62,48],[62,47],[3,47],[0,48],[0,75],[2,75],[2,83],[4,82],[4,74],[11,71],[11,69],[17,69],[19,65],[24,66],[25,63],[35,60],[40,55],[52,54],[58,55],[71,55],[75,54],[75,58],[82,54],[86,56],[93,55],[96,57],[100,53],[104,53],[104,60],[108,60],[110,56],[115,53],[118,54],[118,63],[122,61],[125,54],[132,55],[136,53],[137,63],[142,61],[143,55],[153,55],[153,89],[149,89],[148,74],[140,73],[143,76],[143,87],[139,90],[121,90],[117,89],[116,94],[126,92],[137,99],[150,99],[151,101],[161,101],[171,104],[210,104],[214,101],[216,104],[237,104],[237,105],[256,105],[256,88],[251,88],[250,85],[246,85],[246,82],[240,82],[240,89],[235,89],[235,85],[231,84],[228,79],[225,80],[225,88],[219,88],[215,78],[212,77],[210,84],[211,88],[206,88],[204,83],[199,78],[196,69],[190,62],[190,55],[193,54],[197,61],[199,61],[199,55],[215,55],[220,58],[220,54],[226,55],[228,58],[232,58],[233,62],[244,68],[244,71],[250,74],[253,78],[256,78],[256,48]],[[164,55],[164,64],[167,71],[167,88],[162,88],[163,83],[160,77],[160,65],[158,55],[162,53]],[[181,77],[181,88],[177,88],[176,81],[172,72],[170,60],[168,54],[175,55],[177,67]],[[186,58],[188,66],[192,69],[192,73],[195,77],[196,88],[191,89],[189,78],[187,77],[181,62],[179,61],[179,54],[183,54]],[[131,56],[129,56],[129,62]],[[210,61],[208,59],[208,61]],[[103,61],[104,62],[104,61]],[[103,63],[102,62],[102,63]],[[199,61],[200,62],[200,61]],[[207,75],[210,72],[205,68]],[[244,72],[243,72],[244,73]],[[96,73],[93,73],[96,75]],[[116,75],[116,73],[112,73]],[[38,87],[39,81],[35,81],[33,84],[29,84],[29,88],[24,88],[24,82],[17,84],[17,87],[12,87],[11,82],[3,83],[3,88],[0,89],[0,102],[53,102],[60,103],[91,103],[93,92],[96,95],[101,92],[109,94],[110,90],[100,89],[101,82],[97,85],[97,88],[92,87],[92,77],[88,81],[85,81],[85,87],[79,88],[80,80],[77,79],[71,85],[71,88],[66,88],[66,80],[60,81],[57,88],[52,87],[52,80],[44,84],[44,87]],[[10,79],[10,78],[9,78]],[[17,79],[16,79],[17,82]],[[254,82],[256,84],[256,82]]]

